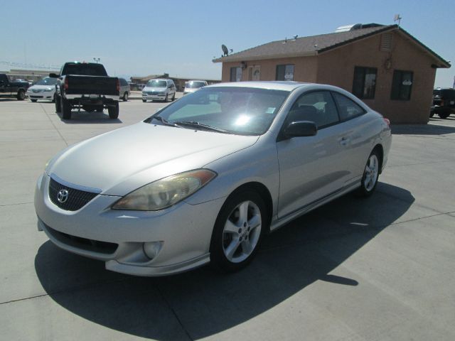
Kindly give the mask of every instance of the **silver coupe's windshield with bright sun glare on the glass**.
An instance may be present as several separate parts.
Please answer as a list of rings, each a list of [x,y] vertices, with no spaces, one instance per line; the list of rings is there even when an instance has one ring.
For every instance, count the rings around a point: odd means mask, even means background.
[[[230,134],[261,135],[269,129],[288,95],[289,92],[283,90],[204,87],[178,99],[146,122]]]

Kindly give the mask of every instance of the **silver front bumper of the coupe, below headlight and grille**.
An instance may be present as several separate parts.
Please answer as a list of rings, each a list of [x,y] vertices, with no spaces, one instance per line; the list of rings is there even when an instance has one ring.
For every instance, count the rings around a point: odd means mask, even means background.
[[[50,201],[49,181],[44,174],[36,184],[38,229],[62,249],[137,276],[176,274],[210,261],[210,238],[223,198],[144,212],[110,210],[119,197],[97,195],[80,210],[66,211]],[[149,242],[161,244],[153,259],[144,251]]]

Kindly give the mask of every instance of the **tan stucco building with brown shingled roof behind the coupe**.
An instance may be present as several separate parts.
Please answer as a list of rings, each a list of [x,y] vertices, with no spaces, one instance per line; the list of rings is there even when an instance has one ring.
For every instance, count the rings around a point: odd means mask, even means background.
[[[223,82],[294,80],[352,92],[392,123],[427,123],[438,67],[449,62],[397,25],[278,40],[213,60]]]

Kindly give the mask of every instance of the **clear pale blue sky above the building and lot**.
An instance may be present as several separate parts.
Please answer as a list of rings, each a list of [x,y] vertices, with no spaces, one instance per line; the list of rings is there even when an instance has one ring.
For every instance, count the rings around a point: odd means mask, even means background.
[[[455,63],[455,2],[441,1],[16,1],[0,0],[0,70],[101,58],[110,75],[220,79],[221,44],[234,52],[272,40],[331,33],[351,23],[401,26]],[[438,69],[451,87],[455,68]]]

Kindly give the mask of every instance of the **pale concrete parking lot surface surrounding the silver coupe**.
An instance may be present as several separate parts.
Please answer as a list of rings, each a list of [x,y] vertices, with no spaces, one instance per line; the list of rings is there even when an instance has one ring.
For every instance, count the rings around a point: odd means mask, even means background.
[[[236,274],[136,278],[50,243],[33,208],[48,159],[164,105],[63,121],[0,99],[1,340],[455,340],[454,115],[393,126],[373,197],[291,222]]]

